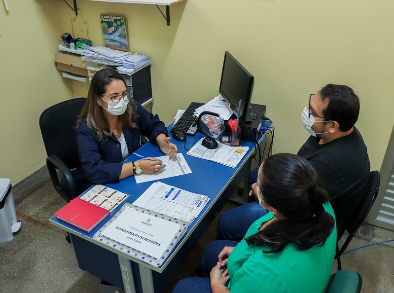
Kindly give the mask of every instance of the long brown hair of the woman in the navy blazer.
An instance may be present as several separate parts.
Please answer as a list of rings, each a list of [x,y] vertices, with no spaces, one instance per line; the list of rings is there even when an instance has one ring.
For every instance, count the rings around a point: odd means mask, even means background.
[[[105,94],[108,85],[114,80],[121,80],[126,86],[126,82],[122,74],[111,68],[105,68],[93,75],[90,82],[88,98],[86,104],[79,113],[76,126],[79,126],[81,119],[86,118],[86,124],[93,129],[98,136],[99,141],[102,140],[103,135],[109,137],[112,133],[109,130],[109,125],[106,117],[103,115],[103,109],[97,104],[97,99]],[[126,111],[118,117],[120,127],[136,128],[137,112],[134,102],[129,101],[129,107]]]

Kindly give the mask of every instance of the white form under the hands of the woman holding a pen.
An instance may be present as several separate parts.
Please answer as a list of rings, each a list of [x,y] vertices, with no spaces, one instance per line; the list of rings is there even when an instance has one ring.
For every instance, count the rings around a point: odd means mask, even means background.
[[[156,157],[156,159],[162,160],[166,167],[154,174],[141,173],[140,175],[134,175],[137,183],[157,181],[164,178],[191,173],[191,169],[181,153],[177,153],[177,159],[175,160],[170,159],[167,155]]]

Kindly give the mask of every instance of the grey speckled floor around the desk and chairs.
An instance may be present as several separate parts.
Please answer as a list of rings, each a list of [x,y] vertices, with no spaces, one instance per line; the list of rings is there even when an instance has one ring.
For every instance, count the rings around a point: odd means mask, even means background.
[[[78,268],[72,245],[65,240],[65,232],[48,221],[64,204],[52,184],[47,182],[16,205],[22,227],[12,241],[0,243],[0,293],[100,292],[100,280]],[[235,206],[229,202],[223,211]],[[215,239],[215,226],[216,221],[186,257],[166,293],[171,292],[178,280],[193,276],[204,248]],[[393,231],[365,225],[351,242],[349,250],[393,238]],[[394,292],[394,242],[365,247],[341,259],[343,269],[352,269],[362,276],[361,292]]]

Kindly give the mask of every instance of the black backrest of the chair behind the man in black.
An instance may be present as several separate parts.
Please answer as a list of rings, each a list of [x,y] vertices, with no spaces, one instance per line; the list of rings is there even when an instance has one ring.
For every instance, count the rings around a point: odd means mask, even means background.
[[[369,174],[369,182],[367,191],[362,199],[358,209],[356,209],[353,214],[349,217],[349,220],[346,222],[346,230],[349,234],[354,234],[361,226],[362,222],[365,220],[373,203],[375,202],[376,197],[379,192],[379,184],[380,184],[380,174],[379,171],[371,171]]]

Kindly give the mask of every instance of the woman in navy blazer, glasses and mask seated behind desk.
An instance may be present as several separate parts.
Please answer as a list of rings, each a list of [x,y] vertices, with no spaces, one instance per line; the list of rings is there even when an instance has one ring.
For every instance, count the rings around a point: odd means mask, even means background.
[[[90,183],[117,182],[164,168],[162,161],[155,158],[121,163],[142,146],[142,136],[170,158],[177,155],[177,146],[169,142],[167,128],[159,117],[130,99],[126,82],[117,71],[102,69],[93,75],[77,121],[79,169]]]

